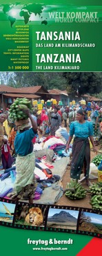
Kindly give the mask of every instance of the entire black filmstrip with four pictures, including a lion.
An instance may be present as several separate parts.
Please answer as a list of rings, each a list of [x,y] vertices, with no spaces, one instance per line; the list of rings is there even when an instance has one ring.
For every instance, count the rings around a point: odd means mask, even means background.
[[[102,237],[102,211],[0,198],[0,225]]]

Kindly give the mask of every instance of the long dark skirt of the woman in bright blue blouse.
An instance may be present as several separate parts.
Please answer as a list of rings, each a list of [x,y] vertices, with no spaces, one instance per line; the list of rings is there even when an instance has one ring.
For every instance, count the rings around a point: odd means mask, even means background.
[[[84,174],[88,178],[90,171],[90,143],[88,138],[74,138],[72,145],[72,162],[70,177],[80,179],[81,170],[84,165]]]

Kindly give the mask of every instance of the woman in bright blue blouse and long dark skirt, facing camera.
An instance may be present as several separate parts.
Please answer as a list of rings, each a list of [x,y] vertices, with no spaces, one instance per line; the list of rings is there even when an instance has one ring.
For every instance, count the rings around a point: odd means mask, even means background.
[[[70,136],[65,150],[68,150],[72,137],[74,136],[70,177],[78,181],[84,165],[86,183],[89,184],[88,176],[90,171],[90,143],[88,138],[90,138],[94,152],[96,152],[96,147],[93,139],[92,122],[85,120],[84,117],[85,112],[83,109],[79,109],[79,111],[76,113],[76,121],[70,124]]]

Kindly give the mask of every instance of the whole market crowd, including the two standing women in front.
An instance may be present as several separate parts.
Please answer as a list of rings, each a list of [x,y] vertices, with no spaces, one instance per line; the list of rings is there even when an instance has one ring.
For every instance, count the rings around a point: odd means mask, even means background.
[[[70,178],[80,179],[81,170],[84,165],[84,174],[88,183],[90,171],[90,142],[94,152],[101,138],[102,109],[95,102],[87,104],[76,104],[71,106],[43,104],[40,111],[34,107],[32,113],[26,111],[28,122],[17,125],[9,118],[9,109],[1,109],[0,114],[0,162],[3,169],[12,166],[14,154],[16,157],[16,181],[14,183],[14,197],[26,198],[32,201],[32,194],[36,187],[34,178],[34,152],[33,145],[39,134],[42,136],[55,136],[59,127],[65,127],[69,132],[69,140],[65,151],[68,152],[71,140],[72,161],[70,165]],[[90,138],[90,142],[89,142]],[[15,196],[16,195],[16,196]],[[24,198],[24,197],[23,197]]]

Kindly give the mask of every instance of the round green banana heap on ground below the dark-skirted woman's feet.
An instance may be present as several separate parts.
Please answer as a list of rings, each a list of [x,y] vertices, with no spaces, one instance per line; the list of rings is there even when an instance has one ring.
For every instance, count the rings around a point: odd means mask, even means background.
[[[71,180],[66,186],[65,196],[71,200],[83,199],[86,196],[86,190],[81,183]]]

